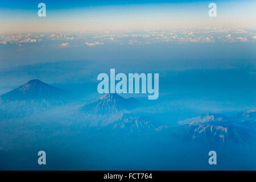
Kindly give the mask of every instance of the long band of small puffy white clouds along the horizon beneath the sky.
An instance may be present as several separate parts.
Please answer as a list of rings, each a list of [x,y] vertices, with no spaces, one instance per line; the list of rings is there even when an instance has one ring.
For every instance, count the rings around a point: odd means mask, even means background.
[[[137,39],[137,40],[136,40]],[[237,28],[208,28],[207,30],[198,30],[196,28],[188,28],[186,30],[143,30],[141,32],[71,32],[63,34],[56,32],[55,34],[6,34],[0,36],[0,45],[9,44],[26,44],[36,43],[40,46],[40,42],[57,44],[60,47],[70,47],[69,43],[73,42],[72,47],[84,44],[84,46],[95,47],[106,43],[119,45],[143,45],[155,44],[162,42],[256,42],[256,35],[253,30],[241,30]],[[62,44],[61,44],[62,43]],[[36,46],[35,45],[35,46]]]

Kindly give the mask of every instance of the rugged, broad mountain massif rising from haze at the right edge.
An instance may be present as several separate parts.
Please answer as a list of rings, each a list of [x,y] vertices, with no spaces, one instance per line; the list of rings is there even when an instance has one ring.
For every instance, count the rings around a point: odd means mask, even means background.
[[[183,128],[184,138],[188,140],[216,144],[246,143],[255,139],[256,122],[254,115],[256,111],[250,111],[249,115],[245,113],[233,117],[207,113],[201,114],[199,117],[185,119],[179,123]]]

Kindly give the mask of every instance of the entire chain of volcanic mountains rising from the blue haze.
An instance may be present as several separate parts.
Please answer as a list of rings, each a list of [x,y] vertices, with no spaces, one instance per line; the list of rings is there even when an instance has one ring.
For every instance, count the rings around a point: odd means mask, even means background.
[[[61,97],[63,94],[64,91],[60,88],[40,80],[30,80],[0,96],[0,119],[24,117],[61,106],[64,104]],[[255,110],[238,113],[232,117],[205,113],[179,121],[174,130],[174,127],[163,126],[161,123],[152,122],[151,118],[134,113],[133,109],[138,105],[139,101],[135,98],[123,98],[118,94],[109,93],[78,107],[71,117],[81,123],[88,123],[88,126],[103,127],[107,130],[122,133],[168,131],[170,134],[175,133],[180,138],[195,142],[246,143],[255,137]]]

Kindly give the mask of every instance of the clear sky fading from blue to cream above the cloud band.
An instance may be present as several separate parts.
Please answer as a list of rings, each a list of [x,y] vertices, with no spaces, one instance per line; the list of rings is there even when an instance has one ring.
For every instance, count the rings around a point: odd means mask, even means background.
[[[41,1],[40,1],[41,2]],[[255,1],[0,1],[0,33],[256,27]]]

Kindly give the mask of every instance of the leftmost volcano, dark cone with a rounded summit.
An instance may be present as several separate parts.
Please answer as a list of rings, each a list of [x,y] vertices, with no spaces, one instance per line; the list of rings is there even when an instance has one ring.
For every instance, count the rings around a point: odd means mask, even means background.
[[[63,90],[40,80],[30,80],[0,96],[0,119],[23,117],[59,106],[63,104],[63,93]]]

